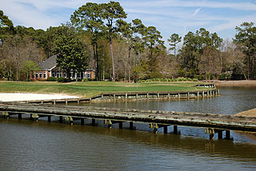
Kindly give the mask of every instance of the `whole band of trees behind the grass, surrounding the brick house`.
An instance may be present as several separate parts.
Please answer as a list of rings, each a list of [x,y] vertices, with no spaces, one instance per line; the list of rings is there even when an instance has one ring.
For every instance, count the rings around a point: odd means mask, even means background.
[[[70,21],[47,30],[15,26],[0,10],[0,79],[29,80],[30,70],[57,54],[70,71],[94,69],[96,80],[152,78],[255,79],[256,27],[243,22],[232,40],[204,28],[171,34],[167,50],[154,26],[126,22],[119,2],[87,2]]]

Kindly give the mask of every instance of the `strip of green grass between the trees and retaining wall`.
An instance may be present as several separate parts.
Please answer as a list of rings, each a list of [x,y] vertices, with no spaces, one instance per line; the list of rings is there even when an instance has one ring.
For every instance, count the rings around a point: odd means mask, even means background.
[[[91,97],[99,93],[135,91],[192,91],[198,82],[0,82],[0,93],[64,93],[79,97]]]

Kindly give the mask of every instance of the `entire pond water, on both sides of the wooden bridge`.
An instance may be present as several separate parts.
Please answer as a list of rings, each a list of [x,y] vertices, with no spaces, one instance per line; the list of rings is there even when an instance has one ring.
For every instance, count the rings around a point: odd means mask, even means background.
[[[256,108],[256,87],[221,88],[220,97],[190,101],[129,101],[90,105],[234,114]],[[86,104],[89,105],[89,104]],[[28,116],[29,117],[29,116]],[[34,122],[0,117],[0,170],[256,170],[256,136],[231,132],[234,141],[208,140],[202,128],[179,126],[181,135]],[[172,131],[170,126],[169,132]]]

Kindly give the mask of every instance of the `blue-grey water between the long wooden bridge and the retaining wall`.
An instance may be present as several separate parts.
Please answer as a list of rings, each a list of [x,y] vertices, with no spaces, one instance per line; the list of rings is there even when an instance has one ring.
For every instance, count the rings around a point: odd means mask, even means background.
[[[222,87],[221,96],[183,101],[119,101],[83,105],[182,112],[235,114],[256,108],[256,87]]]

